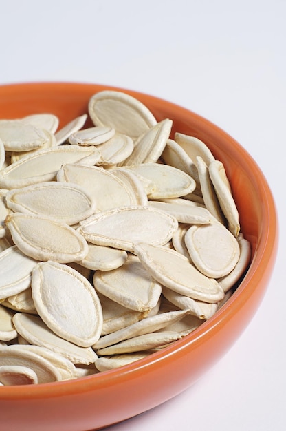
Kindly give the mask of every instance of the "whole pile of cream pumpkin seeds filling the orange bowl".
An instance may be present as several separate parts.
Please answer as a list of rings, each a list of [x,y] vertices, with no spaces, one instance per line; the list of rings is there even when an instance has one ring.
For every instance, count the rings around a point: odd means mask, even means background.
[[[1,385],[146,357],[214,315],[250,262],[201,140],[170,139],[172,120],[115,91],[58,124],[0,120]]]

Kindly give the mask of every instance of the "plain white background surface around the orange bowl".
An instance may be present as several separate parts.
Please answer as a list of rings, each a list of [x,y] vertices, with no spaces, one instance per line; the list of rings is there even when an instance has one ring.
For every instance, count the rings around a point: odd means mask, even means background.
[[[276,269],[245,333],[195,386],[110,429],[284,430],[286,1],[0,0],[0,18],[0,85],[103,83],[178,103],[238,140],[276,200]]]

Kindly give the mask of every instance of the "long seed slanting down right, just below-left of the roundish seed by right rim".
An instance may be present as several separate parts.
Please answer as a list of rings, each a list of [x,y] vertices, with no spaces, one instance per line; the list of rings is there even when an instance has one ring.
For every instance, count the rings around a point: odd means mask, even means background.
[[[175,250],[151,244],[136,244],[134,252],[151,275],[173,291],[204,302],[218,302],[224,292],[216,280],[200,273]]]

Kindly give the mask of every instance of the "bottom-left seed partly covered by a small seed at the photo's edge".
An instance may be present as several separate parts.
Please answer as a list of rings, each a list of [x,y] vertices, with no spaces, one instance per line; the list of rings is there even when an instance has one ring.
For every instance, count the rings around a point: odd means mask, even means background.
[[[61,381],[61,372],[50,361],[36,353],[23,349],[19,344],[0,348],[0,366],[25,366],[36,372],[38,383]]]

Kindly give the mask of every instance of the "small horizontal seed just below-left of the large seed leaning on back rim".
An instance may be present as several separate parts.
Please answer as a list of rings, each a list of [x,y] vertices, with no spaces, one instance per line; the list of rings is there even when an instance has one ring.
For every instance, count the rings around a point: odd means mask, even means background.
[[[115,129],[112,127],[89,127],[89,129],[78,130],[69,136],[72,145],[99,145],[113,138]]]

